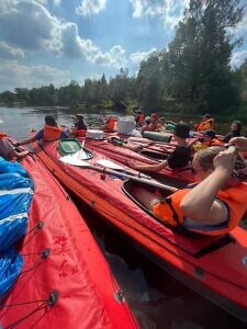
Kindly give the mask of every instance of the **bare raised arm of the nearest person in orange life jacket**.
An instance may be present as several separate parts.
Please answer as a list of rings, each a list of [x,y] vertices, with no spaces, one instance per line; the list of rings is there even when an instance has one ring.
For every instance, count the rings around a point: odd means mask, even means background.
[[[214,159],[214,171],[192,189],[181,201],[184,215],[194,222],[217,224],[224,220],[225,211],[215,201],[217,192],[225,186],[234,168],[234,155],[223,151]]]

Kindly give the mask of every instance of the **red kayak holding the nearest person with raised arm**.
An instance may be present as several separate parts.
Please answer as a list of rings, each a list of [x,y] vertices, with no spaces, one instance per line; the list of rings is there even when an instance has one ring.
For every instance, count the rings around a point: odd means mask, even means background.
[[[100,163],[108,159],[97,151],[89,152],[88,158],[80,157],[80,151],[61,157],[59,141],[33,143],[33,149],[68,190],[150,259],[190,288],[247,320],[247,238],[244,229],[237,227],[231,235],[215,237],[192,237],[173,230],[144,208],[133,193],[136,188],[153,191],[154,186],[156,197],[158,188],[159,195],[166,196],[171,193],[171,188],[101,167]]]

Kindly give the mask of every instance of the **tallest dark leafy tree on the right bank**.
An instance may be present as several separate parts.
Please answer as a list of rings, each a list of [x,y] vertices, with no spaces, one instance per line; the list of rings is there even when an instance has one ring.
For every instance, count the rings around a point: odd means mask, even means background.
[[[239,0],[191,0],[169,45],[170,87],[180,99],[200,102],[211,111],[235,102],[229,60],[240,39],[226,27],[243,18]],[[226,98],[226,99],[225,99]]]

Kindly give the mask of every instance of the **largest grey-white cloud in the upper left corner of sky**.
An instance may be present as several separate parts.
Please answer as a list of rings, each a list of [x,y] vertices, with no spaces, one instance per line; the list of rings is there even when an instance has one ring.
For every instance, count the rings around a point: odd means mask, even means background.
[[[5,41],[16,47],[33,52],[43,49],[57,56],[82,58],[105,66],[126,64],[123,48],[113,46],[102,53],[90,39],[80,37],[77,24],[52,16],[45,7],[34,0],[0,2],[0,27],[7,31]]]

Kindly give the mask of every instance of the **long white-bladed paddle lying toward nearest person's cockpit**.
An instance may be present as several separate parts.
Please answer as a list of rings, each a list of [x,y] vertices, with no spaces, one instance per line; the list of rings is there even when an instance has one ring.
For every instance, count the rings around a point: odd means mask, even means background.
[[[65,156],[65,157],[61,157],[59,160],[65,162],[65,163],[69,163],[69,164],[77,166],[77,167],[89,168],[89,169],[97,170],[97,171],[102,172],[102,173],[114,174],[116,177],[120,177],[120,178],[123,178],[123,179],[126,179],[126,180],[133,180],[133,181],[136,181],[136,182],[139,182],[139,183],[144,183],[144,184],[147,184],[147,185],[150,185],[150,186],[158,188],[158,189],[169,190],[171,192],[178,191],[178,189],[176,189],[173,186],[161,184],[161,183],[159,183],[155,180],[147,180],[147,179],[143,179],[143,178],[137,178],[135,175],[131,175],[131,174],[127,174],[127,173],[124,173],[124,172],[120,172],[120,171],[116,171],[116,170],[113,170],[113,169],[110,169],[110,168],[98,167],[96,164],[91,164],[87,161],[80,160],[80,159],[78,159],[76,157],[72,157],[72,156]]]

